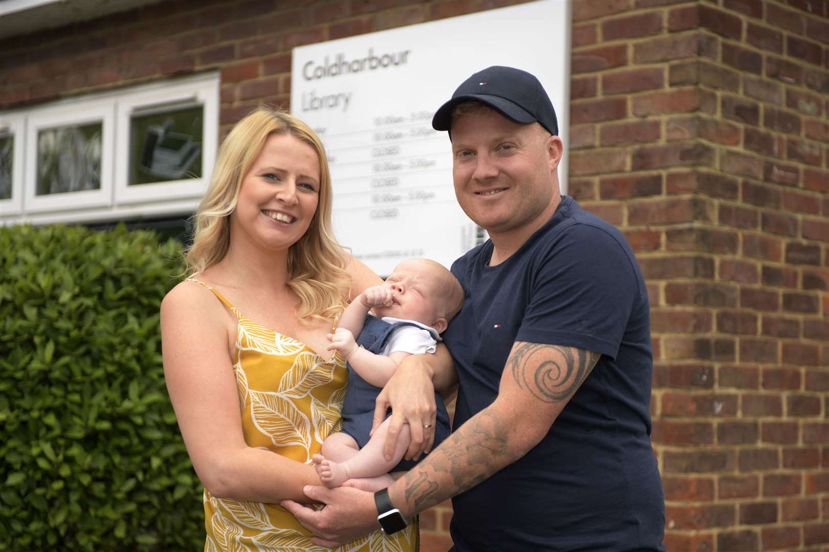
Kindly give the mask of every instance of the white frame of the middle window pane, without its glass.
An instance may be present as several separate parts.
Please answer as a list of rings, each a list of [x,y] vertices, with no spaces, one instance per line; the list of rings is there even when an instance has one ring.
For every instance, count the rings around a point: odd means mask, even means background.
[[[112,159],[114,156],[114,105],[84,101],[33,110],[26,121],[24,191],[27,212],[67,211],[112,204]],[[97,190],[66,191],[44,196],[37,192],[37,135],[41,130],[101,123],[100,187]]]

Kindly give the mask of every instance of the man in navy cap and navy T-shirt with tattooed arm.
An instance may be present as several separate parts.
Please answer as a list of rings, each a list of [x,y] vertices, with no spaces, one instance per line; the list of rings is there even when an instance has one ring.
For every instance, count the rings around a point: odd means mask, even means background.
[[[491,239],[452,267],[466,291],[444,333],[453,434],[378,491],[376,509],[369,493],[319,487],[306,492],[322,511],[286,507],[325,545],[376,528],[375,515],[395,530],[452,496],[453,550],[664,550],[650,312],[633,251],[560,195],[558,123],[533,75],[472,75],[433,126],[449,131],[458,202]],[[384,394],[402,394],[404,377]]]

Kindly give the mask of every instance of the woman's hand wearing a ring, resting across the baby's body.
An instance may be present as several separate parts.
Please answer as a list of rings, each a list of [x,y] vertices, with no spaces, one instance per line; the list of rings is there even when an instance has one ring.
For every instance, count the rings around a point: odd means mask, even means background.
[[[385,413],[391,409],[389,433],[383,448],[386,460],[390,460],[395,452],[403,424],[409,424],[411,433],[411,443],[405,453],[405,459],[416,460],[421,454],[432,450],[437,407],[434,404],[432,367],[425,356],[407,356],[380,395],[377,395],[371,433],[383,423]]]

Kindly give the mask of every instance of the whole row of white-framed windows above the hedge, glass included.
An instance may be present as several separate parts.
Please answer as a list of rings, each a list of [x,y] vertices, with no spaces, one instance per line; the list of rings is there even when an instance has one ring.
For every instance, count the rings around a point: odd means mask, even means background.
[[[211,73],[0,114],[0,224],[194,211],[216,157],[218,97]]]

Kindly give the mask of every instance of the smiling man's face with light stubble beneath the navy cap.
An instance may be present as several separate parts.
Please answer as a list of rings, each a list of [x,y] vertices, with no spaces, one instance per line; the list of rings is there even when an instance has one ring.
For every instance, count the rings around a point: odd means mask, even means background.
[[[535,231],[555,212],[561,141],[541,124],[465,114],[452,123],[452,153],[458,203],[493,237]]]

